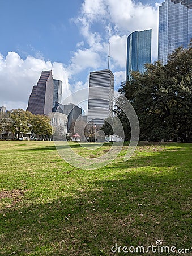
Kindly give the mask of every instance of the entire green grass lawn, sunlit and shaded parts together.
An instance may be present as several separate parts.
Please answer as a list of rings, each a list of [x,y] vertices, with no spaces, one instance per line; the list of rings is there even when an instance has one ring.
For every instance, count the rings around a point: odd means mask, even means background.
[[[190,249],[191,148],[140,142],[123,162],[125,144],[108,166],[80,170],[53,142],[0,141],[0,255],[134,255],[111,247],[157,240]]]

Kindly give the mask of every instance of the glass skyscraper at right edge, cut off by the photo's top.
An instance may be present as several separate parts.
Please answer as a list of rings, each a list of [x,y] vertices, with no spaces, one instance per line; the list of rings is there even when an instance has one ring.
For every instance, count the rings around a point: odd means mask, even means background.
[[[168,54],[187,46],[192,38],[192,0],[165,0],[159,6],[158,60],[167,62]]]

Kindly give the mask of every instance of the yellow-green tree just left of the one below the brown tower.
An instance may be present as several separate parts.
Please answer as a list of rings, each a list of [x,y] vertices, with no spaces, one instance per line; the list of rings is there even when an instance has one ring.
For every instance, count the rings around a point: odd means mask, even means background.
[[[12,119],[12,131],[17,134],[19,139],[20,133],[29,131],[29,119],[31,114],[23,109],[12,109],[10,118]]]

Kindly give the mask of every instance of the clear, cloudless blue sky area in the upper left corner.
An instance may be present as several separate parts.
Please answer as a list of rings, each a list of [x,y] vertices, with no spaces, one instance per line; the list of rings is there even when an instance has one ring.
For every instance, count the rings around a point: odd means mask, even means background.
[[[67,2],[67,3],[66,3]],[[67,63],[70,52],[82,40],[71,21],[79,13],[80,0],[1,0],[0,49]]]

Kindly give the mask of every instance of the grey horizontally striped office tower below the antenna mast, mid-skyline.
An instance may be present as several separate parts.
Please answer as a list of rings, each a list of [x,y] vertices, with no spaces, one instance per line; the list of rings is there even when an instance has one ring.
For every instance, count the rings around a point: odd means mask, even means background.
[[[114,75],[109,69],[91,72],[89,76],[87,122],[103,125],[113,116]]]

